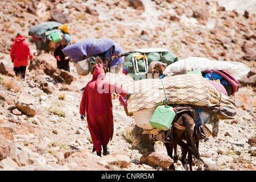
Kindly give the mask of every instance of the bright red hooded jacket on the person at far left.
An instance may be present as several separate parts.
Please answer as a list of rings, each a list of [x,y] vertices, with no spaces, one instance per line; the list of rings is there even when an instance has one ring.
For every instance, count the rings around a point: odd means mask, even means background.
[[[30,46],[24,36],[20,35],[14,39],[13,46],[11,46],[10,52],[11,60],[13,60],[14,67],[27,66],[30,64],[30,60],[33,60],[33,55],[30,51]]]

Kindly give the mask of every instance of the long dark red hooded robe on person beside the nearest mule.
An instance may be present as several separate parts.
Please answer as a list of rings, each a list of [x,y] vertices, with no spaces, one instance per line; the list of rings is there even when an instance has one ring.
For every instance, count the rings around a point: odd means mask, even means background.
[[[128,94],[117,84],[105,80],[105,72],[98,64],[93,78],[85,86],[80,102],[80,114],[86,114],[88,129],[93,142],[93,151],[101,151],[102,144],[108,144],[114,133],[112,93]]]

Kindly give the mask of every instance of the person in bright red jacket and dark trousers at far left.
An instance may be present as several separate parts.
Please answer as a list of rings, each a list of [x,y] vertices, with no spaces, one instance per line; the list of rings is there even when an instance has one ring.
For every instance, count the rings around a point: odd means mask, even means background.
[[[13,46],[11,46],[11,61],[14,64],[14,72],[16,76],[21,76],[24,80],[26,75],[27,65],[30,64],[30,61],[33,61],[34,57],[30,51],[30,46],[21,32],[19,32],[14,39]]]

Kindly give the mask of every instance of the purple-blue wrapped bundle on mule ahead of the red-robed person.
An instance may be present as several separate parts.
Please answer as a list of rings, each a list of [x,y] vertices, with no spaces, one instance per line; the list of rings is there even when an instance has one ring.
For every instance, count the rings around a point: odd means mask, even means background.
[[[68,55],[75,63],[84,59],[85,56],[98,55],[108,51],[114,46],[112,56],[124,53],[125,51],[118,43],[110,39],[84,39],[78,43],[71,44],[63,49],[63,52]],[[115,68],[119,64],[123,64],[124,57],[115,57],[110,60],[110,68]]]

